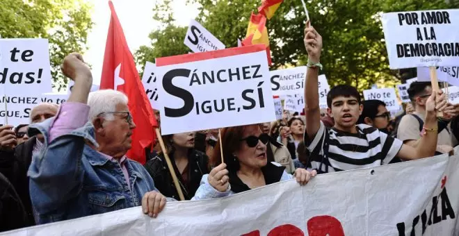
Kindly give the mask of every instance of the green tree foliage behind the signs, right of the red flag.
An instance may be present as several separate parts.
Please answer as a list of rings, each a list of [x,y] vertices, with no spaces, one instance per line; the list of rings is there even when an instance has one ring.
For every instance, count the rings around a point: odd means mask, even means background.
[[[193,2],[193,0],[189,0]],[[245,37],[250,12],[257,12],[260,0],[194,0],[200,3],[198,22],[227,47],[236,47]],[[398,71],[389,69],[380,15],[383,12],[457,8],[458,0],[307,0],[312,25],[323,37],[321,62],[329,83],[350,84],[364,90],[374,83],[394,85]],[[137,52],[138,63],[154,58],[187,53],[186,28],[177,27],[168,1],[156,6],[164,27],[150,34],[150,47]],[[164,13],[168,12],[168,13]],[[273,68],[305,65],[303,44],[305,12],[301,1],[284,1],[267,23]]]

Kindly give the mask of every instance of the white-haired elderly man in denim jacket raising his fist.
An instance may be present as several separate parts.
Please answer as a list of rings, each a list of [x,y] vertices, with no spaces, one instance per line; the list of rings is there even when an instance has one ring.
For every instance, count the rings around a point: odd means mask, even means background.
[[[92,75],[77,53],[63,73],[75,81],[54,119],[30,126],[45,137],[29,169],[31,199],[40,224],[143,206],[156,217],[166,198],[140,163],[126,158],[136,128],[127,96],[114,90],[90,94]],[[87,121],[89,121],[87,123]]]

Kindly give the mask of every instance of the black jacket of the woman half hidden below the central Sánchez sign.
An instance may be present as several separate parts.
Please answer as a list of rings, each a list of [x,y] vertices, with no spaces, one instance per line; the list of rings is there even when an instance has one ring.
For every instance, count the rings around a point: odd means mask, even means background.
[[[174,156],[173,154],[173,152],[169,153],[169,157],[172,158]],[[201,151],[191,149],[188,153],[188,185],[186,186],[184,185],[182,175],[177,169],[177,165],[175,165],[173,160],[171,160],[171,162],[175,169],[175,175],[177,175],[179,184],[182,187],[185,200],[190,200],[193,196],[195,196],[202,176],[204,174],[209,174],[209,158]],[[145,169],[147,169],[150,176],[152,176],[154,186],[159,190],[159,192],[161,192],[161,194],[180,200],[163,153],[160,153],[155,158],[152,158],[145,163]]]

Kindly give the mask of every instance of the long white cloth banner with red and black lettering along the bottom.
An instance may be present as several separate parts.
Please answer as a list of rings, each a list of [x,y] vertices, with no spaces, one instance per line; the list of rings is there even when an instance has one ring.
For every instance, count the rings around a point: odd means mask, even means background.
[[[458,153],[458,149],[456,149]],[[459,155],[318,175],[230,197],[176,201],[23,228],[41,235],[459,235]],[[129,227],[127,227],[129,226]]]

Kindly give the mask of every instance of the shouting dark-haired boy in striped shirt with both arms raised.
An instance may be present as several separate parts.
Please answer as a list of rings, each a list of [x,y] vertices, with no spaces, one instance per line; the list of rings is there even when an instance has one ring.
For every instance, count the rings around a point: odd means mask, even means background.
[[[335,126],[325,128],[321,122],[318,76],[322,37],[312,27],[305,28],[308,54],[305,81],[305,145],[311,153],[311,165],[319,173],[376,167],[394,157],[416,160],[433,156],[437,144],[437,111],[451,112],[442,92],[433,92],[426,102],[426,122],[419,146],[413,148],[366,124],[356,125],[363,106],[355,87],[339,85],[327,96],[328,113]],[[437,102],[435,102],[437,100]]]

